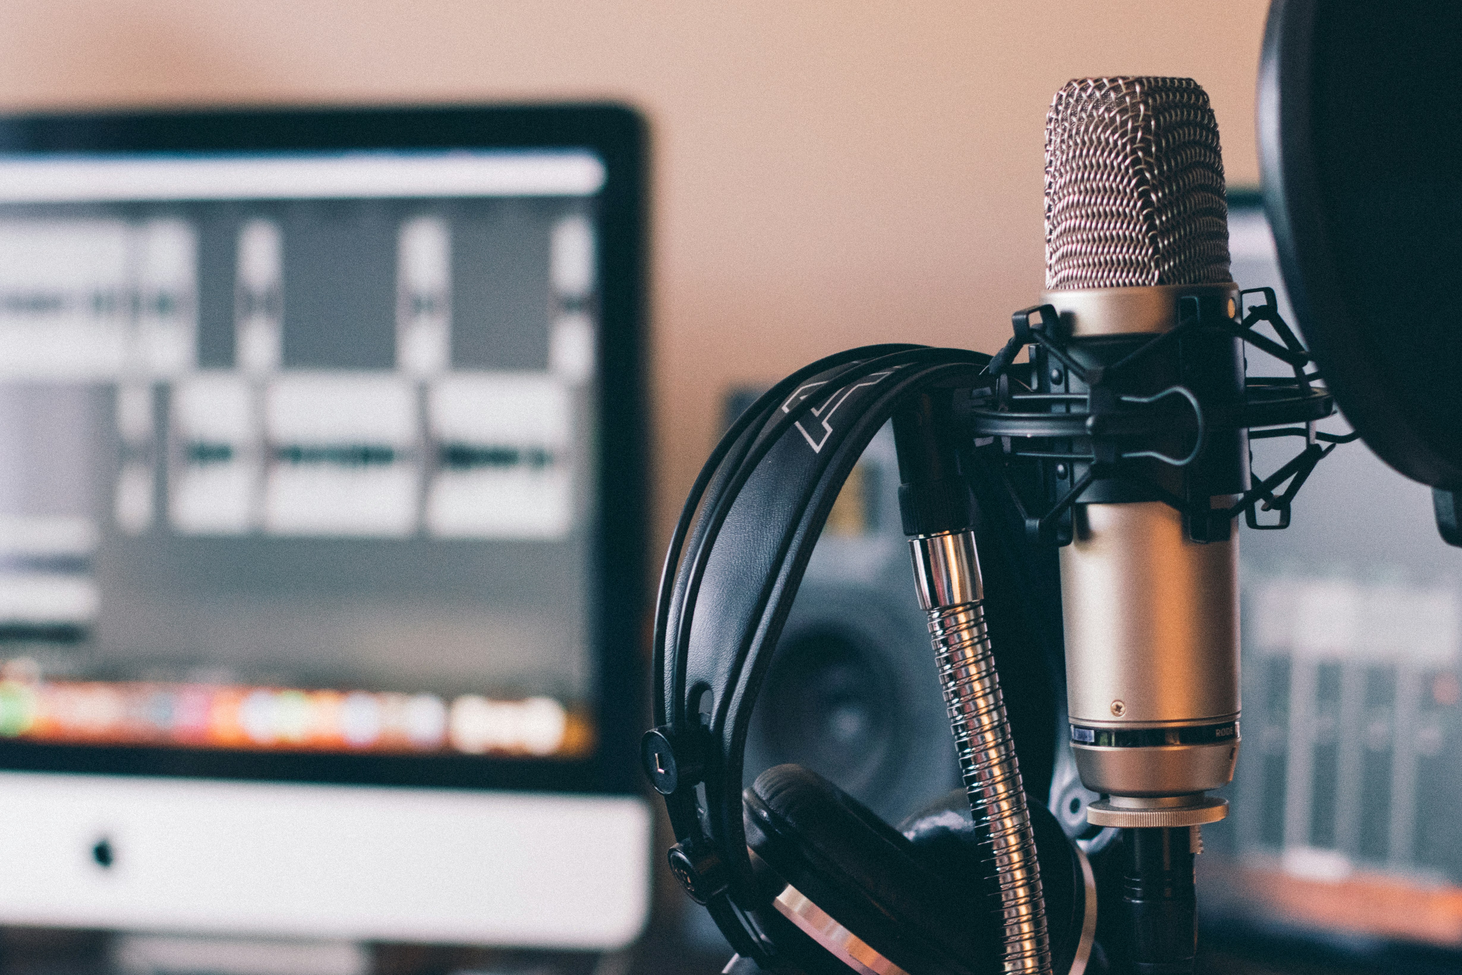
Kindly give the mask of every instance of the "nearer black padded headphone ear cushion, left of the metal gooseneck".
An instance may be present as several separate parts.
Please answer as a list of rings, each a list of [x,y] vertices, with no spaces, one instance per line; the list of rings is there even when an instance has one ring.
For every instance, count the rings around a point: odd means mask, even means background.
[[[744,808],[757,857],[890,962],[959,975],[997,968],[1000,931],[969,889],[816,772],[768,769]]]

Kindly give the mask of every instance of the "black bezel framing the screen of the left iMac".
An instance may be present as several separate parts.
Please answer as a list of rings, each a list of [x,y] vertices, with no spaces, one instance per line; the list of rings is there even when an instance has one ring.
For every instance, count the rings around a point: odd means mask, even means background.
[[[596,747],[586,759],[113,747],[0,740],[0,770],[538,792],[639,792],[646,538],[648,126],[616,102],[222,108],[0,117],[0,153],[148,155],[589,151],[605,167],[599,238],[598,490],[594,547]],[[605,490],[613,485],[613,490]]]

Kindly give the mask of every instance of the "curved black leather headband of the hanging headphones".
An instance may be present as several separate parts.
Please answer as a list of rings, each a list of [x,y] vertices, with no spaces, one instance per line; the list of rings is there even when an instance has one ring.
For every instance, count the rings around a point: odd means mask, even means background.
[[[743,751],[813,547],[852,466],[895,411],[934,389],[985,384],[988,360],[883,345],[814,363],[738,418],[686,501],[661,579],[658,728],[643,757],[667,795],[675,873],[724,931],[732,922],[746,934],[744,944],[732,937],[741,955],[765,955],[744,914],[757,898],[741,820]]]

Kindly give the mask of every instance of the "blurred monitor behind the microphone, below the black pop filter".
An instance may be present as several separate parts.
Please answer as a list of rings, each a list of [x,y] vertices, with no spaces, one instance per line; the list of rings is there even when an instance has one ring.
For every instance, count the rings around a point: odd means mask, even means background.
[[[1234,279],[1273,287],[1294,323],[1257,194],[1231,202],[1230,234]],[[1249,352],[1250,374],[1284,368]],[[1256,471],[1303,444],[1253,441]],[[1341,444],[1289,528],[1244,528],[1238,553],[1243,747],[1231,814],[1203,829],[1205,917],[1462,949],[1462,553],[1430,490]]]

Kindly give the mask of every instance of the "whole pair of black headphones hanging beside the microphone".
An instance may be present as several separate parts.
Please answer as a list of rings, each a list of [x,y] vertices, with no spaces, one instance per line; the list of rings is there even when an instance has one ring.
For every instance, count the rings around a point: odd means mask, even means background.
[[[984,876],[990,854],[978,848],[962,791],[895,829],[800,766],[768,769],[741,788],[751,706],[839,488],[896,411],[931,392],[988,386],[988,361],[963,349],[874,345],[798,370],[732,424],[675,525],[655,611],[656,726],[642,760],[670,811],[671,870],[738,955],[727,971],[1001,968],[999,902]],[[1004,648],[1000,678],[1015,691],[1010,725],[1022,767],[1035,772],[1026,784],[1038,785],[1050,779],[1064,690],[1053,615],[1028,595],[1050,589],[1026,583],[1032,573],[1050,583],[1054,564],[1019,544],[1020,526],[999,496],[981,493],[981,478],[963,481],[991,583],[988,626]],[[1058,631],[1058,607],[1054,618]],[[1091,867],[1041,803],[1028,805],[1051,972],[1080,975],[1095,931]]]

